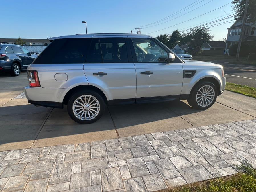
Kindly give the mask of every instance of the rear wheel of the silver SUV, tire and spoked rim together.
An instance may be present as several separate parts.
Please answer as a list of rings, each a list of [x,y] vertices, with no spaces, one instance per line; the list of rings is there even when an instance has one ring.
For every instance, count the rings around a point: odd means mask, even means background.
[[[91,105],[89,105],[90,103]],[[75,111],[73,111],[73,109]],[[80,124],[90,124],[96,122],[101,118],[104,111],[104,100],[101,95],[95,91],[78,91],[77,93],[71,95],[68,100],[68,114],[75,122]]]

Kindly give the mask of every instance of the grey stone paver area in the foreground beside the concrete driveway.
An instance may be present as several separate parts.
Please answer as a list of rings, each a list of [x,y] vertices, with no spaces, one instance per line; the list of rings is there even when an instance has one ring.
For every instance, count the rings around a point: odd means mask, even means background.
[[[156,191],[256,167],[256,120],[0,152],[0,191]]]

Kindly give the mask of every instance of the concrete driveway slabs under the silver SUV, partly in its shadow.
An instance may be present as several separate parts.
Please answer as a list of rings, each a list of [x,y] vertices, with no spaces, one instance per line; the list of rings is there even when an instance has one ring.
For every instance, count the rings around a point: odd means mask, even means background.
[[[186,101],[111,106],[99,121],[82,125],[70,119],[66,108],[35,107],[27,103],[21,94],[27,84],[26,73],[18,77],[0,74],[0,151],[90,142],[256,117],[256,99],[225,91],[205,111],[192,109]]]

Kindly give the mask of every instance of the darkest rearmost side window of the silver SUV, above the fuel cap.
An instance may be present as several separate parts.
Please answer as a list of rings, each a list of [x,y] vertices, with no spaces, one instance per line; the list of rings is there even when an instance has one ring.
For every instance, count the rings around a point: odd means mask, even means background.
[[[91,38],[56,39],[34,60],[33,64],[84,63]]]

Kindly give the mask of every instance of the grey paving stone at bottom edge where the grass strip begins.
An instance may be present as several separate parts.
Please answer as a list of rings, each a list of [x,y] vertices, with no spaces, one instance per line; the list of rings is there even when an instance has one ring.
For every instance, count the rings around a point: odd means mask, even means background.
[[[164,180],[159,173],[143,176],[142,178],[149,192],[167,188]]]

